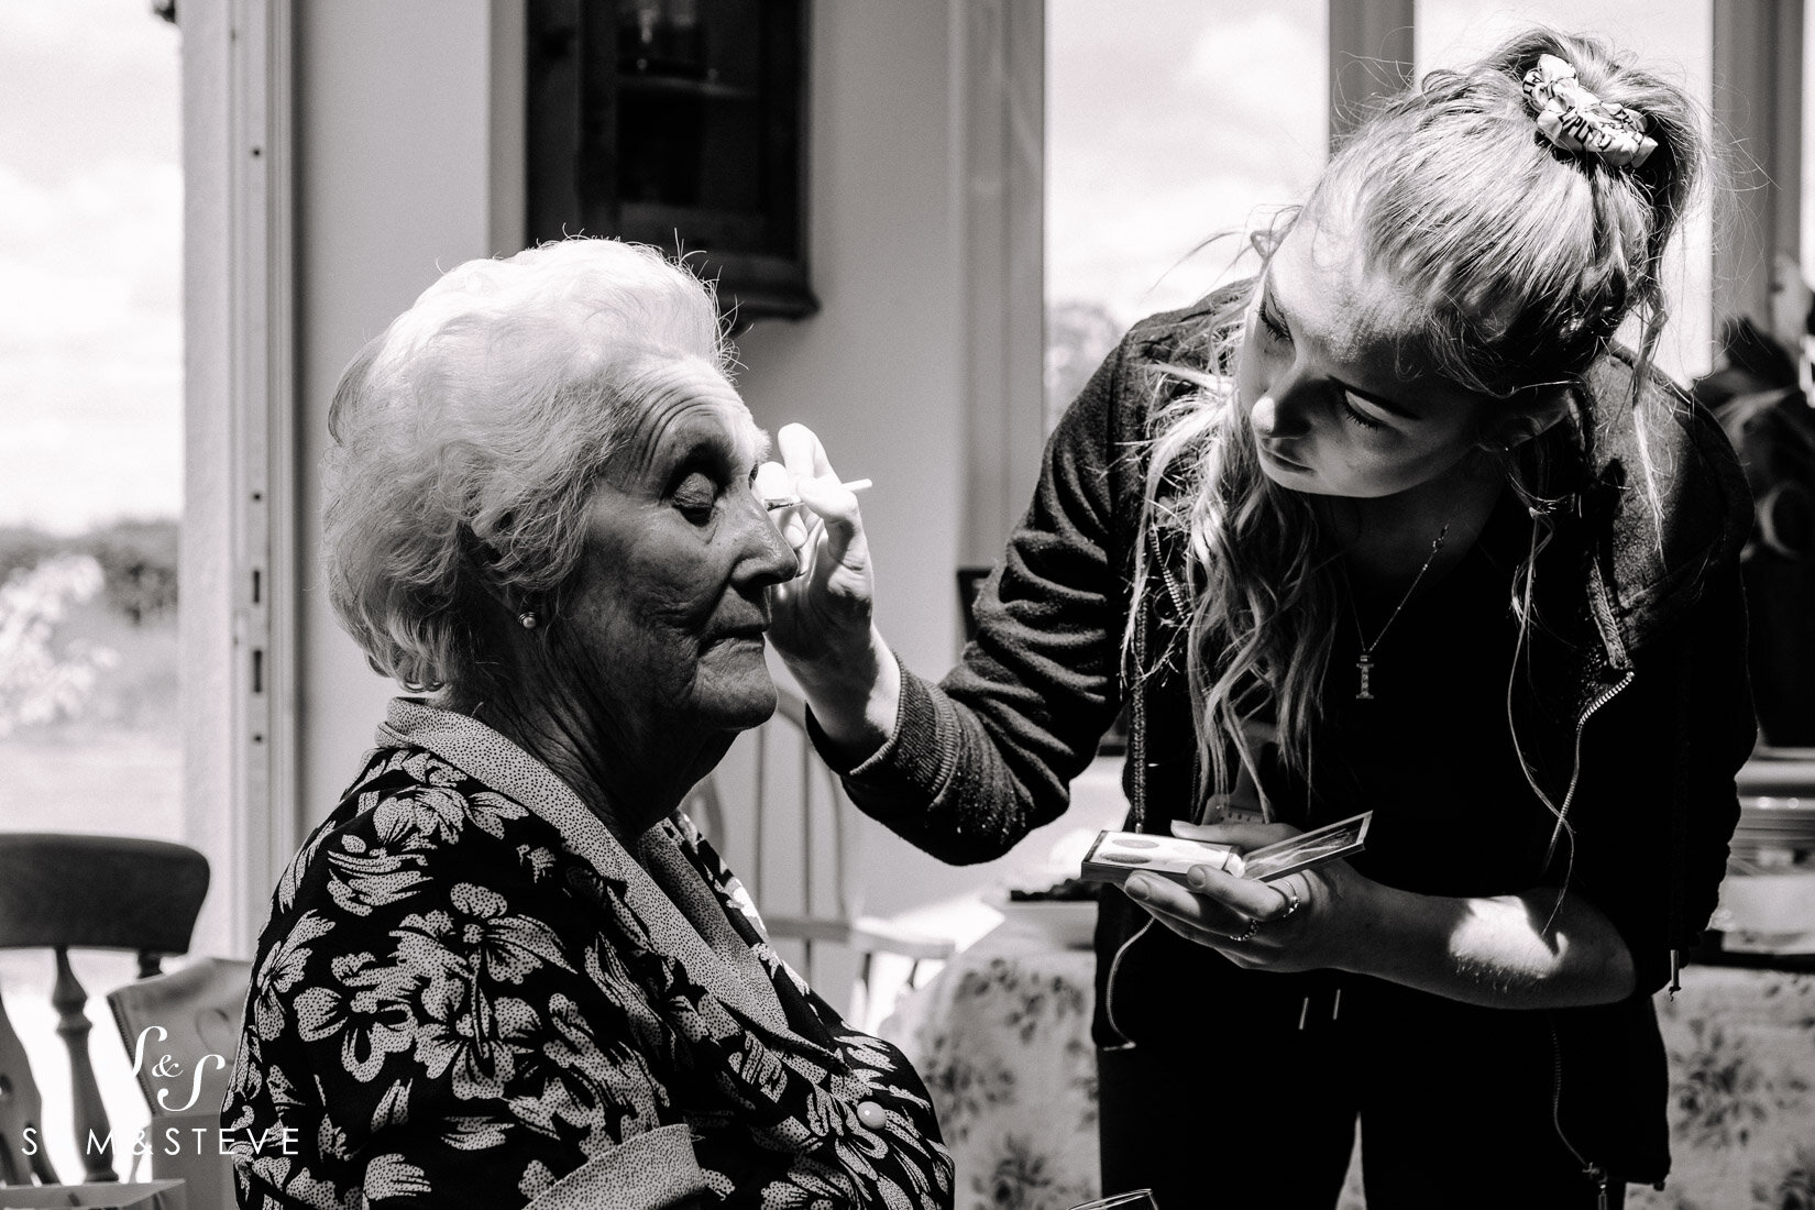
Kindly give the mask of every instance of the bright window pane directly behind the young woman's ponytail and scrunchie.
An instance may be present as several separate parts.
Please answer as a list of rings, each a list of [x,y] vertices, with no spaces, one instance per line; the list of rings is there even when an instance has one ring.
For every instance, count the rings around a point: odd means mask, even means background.
[[[1713,98],[1712,0],[1418,0],[1418,71],[1467,63],[1508,34],[1550,25],[1601,34],[1661,74],[1683,83],[1706,112]],[[1713,361],[1713,223],[1702,203],[1684,223],[1664,268],[1673,316],[1657,363],[1677,381],[1706,374]]]

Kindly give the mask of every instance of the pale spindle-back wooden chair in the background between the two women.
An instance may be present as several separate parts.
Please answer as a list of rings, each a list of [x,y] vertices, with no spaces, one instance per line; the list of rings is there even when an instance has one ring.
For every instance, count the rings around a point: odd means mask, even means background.
[[[855,809],[839,784],[813,751],[806,733],[806,702],[793,691],[779,688],[775,717],[753,737],[753,769],[748,780],[748,798],[739,793],[733,811],[750,811],[753,833],[748,862],[750,885],[762,911],[770,938],[793,942],[800,947],[800,974],[820,987],[822,972],[817,958],[826,947],[855,958],[855,987],[862,996],[862,1012],[873,1005],[877,990],[875,960],[895,954],[908,960],[908,985],[915,985],[922,965],[946,961],[957,952],[957,943],[944,936],[927,936],[902,929],[888,920],[860,914],[860,894],[851,885],[848,869],[846,820]],[[697,813],[706,834],[713,840],[739,820],[726,818],[724,796],[730,782],[708,778],[693,791],[692,811]],[[737,782],[744,784],[744,782]],[[791,878],[775,878],[771,885],[770,849],[780,842],[795,867]],[[820,989],[824,990],[824,989]],[[851,1007],[853,1018],[862,1016]]]

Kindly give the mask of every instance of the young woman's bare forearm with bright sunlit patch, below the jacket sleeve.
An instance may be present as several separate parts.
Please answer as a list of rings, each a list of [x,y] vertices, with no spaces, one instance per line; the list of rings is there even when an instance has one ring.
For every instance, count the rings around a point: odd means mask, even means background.
[[[1343,967],[1490,1009],[1568,1009],[1632,994],[1632,952],[1599,909],[1541,887],[1448,898],[1372,883]]]

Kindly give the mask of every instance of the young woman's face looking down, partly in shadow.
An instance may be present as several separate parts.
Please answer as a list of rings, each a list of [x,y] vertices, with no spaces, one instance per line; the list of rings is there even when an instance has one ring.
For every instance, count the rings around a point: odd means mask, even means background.
[[[1499,406],[1405,365],[1416,299],[1363,265],[1343,210],[1307,210],[1281,239],[1236,381],[1269,479],[1312,495],[1394,495],[1456,468]]]

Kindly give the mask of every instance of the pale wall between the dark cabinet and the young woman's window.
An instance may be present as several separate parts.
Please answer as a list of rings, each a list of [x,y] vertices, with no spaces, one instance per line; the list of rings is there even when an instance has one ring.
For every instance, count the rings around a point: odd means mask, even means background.
[[[906,664],[931,677],[957,653],[955,570],[969,497],[967,131],[953,80],[966,62],[962,16],[958,0],[813,7],[808,216],[820,312],[759,321],[739,341],[748,366],[739,386],[757,423],[773,432],[800,421],[840,475],[875,481],[862,508],[877,620]],[[726,758],[724,787],[742,784],[746,753],[748,744]],[[726,809],[728,860],[753,869],[735,793]],[[873,914],[989,876],[940,865],[869,820],[857,822],[848,849]],[[764,856],[770,885],[755,887],[759,905],[791,911],[797,893],[784,874],[799,854],[771,840]]]

